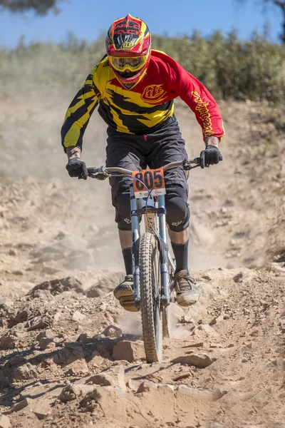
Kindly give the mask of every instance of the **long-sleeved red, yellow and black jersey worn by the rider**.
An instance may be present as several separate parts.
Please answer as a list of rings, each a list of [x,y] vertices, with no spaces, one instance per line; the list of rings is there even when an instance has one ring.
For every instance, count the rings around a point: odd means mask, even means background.
[[[61,130],[63,147],[82,146],[83,133],[98,104],[98,113],[110,128],[142,135],[155,131],[173,115],[173,100],[178,96],[195,113],[204,138],[222,138],[222,116],[214,98],[170,56],[152,50],[147,73],[129,90],[117,80],[105,56],[93,68],[66,112]]]

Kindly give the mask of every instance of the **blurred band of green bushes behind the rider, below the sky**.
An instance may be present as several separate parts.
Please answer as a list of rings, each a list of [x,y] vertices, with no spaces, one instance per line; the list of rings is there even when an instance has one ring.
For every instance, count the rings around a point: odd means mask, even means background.
[[[207,39],[198,32],[185,37],[153,35],[152,47],[175,58],[217,99],[285,103],[285,49],[262,34],[250,41],[240,40],[234,31],[217,31]],[[73,34],[61,44],[26,46],[21,39],[16,49],[0,49],[0,91],[75,91],[104,55],[103,36],[92,44]]]

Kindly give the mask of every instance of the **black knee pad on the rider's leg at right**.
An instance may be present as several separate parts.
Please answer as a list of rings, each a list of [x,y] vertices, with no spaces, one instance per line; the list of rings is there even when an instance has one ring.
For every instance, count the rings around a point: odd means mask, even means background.
[[[187,203],[187,190],[180,185],[167,187],[165,195],[166,221],[174,232],[181,232],[189,226],[190,210]]]

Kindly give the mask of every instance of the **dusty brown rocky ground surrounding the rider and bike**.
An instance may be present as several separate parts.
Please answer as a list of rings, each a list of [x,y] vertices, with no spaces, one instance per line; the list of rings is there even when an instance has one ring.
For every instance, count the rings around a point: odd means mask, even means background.
[[[284,113],[220,103],[224,161],[190,177],[201,299],[172,305],[164,361],[147,365],[140,315],[111,292],[123,268],[108,183],[64,171],[69,98],[1,109],[0,427],[285,427]],[[198,156],[192,113],[177,103],[177,117]],[[89,165],[104,134],[95,113]]]

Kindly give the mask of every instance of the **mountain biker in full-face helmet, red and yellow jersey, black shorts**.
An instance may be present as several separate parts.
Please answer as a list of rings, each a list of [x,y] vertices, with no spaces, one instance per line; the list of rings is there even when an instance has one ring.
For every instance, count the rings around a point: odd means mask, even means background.
[[[129,170],[160,168],[173,161],[187,159],[174,115],[174,98],[180,96],[195,113],[202,127],[205,148],[202,163],[219,162],[219,141],[224,136],[217,103],[202,83],[164,52],[150,49],[150,31],[145,22],[128,14],[110,26],[106,37],[107,54],[97,63],[78,91],[66,113],[61,130],[62,144],[68,156],[66,169],[71,177],[87,178],[86,163],[81,161],[83,133],[96,106],[107,123],[106,165]],[[115,287],[120,304],[135,311],[133,302],[132,235],[130,198],[131,178],[110,178],[115,221],[126,276]],[[188,270],[188,187],[182,167],[165,173],[167,225],[176,260],[175,290],[177,303],[189,306],[199,290]]]

